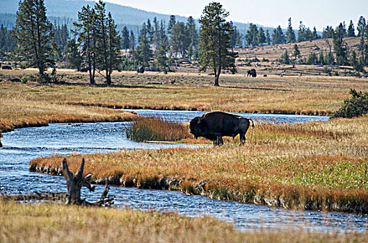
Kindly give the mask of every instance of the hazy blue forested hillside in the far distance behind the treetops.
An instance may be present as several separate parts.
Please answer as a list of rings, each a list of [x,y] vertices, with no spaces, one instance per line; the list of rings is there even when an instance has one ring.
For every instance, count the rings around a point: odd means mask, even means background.
[[[18,0],[0,0],[0,24],[4,24],[8,28],[12,28],[15,23],[15,12],[18,9]],[[47,8],[47,15],[51,22],[69,23],[70,27],[72,22],[77,19],[77,13],[85,5],[89,4],[93,6],[95,1],[88,0],[45,0]],[[165,20],[166,24],[170,15],[163,15],[157,12],[147,12],[145,10],[139,10],[137,8],[131,8],[128,6],[120,6],[118,4],[106,3],[106,10],[111,12],[115,22],[118,24],[118,28],[122,29],[123,26],[127,26],[129,29],[137,32],[141,28],[142,24],[147,19],[157,17],[159,21]],[[6,13],[6,15],[4,15]],[[187,17],[176,15],[177,21],[186,22]],[[237,26],[240,33],[246,33],[249,24],[234,23]],[[199,24],[197,23],[197,28]]]

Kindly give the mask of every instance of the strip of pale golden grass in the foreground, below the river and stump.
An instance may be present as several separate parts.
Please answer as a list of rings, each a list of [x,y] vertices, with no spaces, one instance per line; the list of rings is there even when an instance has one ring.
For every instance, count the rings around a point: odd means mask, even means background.
[[[367,242],[361,233],[246,231],[170,212],[19,204],[0,200],[0,242]]]

